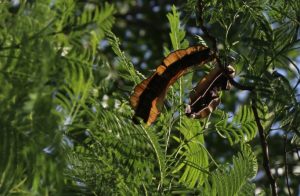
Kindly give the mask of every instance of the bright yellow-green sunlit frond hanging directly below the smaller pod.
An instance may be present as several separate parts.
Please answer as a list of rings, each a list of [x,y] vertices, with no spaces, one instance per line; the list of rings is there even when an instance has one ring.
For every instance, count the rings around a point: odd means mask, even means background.
[[[173,173],[182,170],[179,183],[188,188],[200,187],[207,178],[209,164],[204,144],[204,129],[199,121],[187,117],[182,119],[182,124],[177,129],[183,137],[174,136],[180,146],[175,154],[178,164]]]

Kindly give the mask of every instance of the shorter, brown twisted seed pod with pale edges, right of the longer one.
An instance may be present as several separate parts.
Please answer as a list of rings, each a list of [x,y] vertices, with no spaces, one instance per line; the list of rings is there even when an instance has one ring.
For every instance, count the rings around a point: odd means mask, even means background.
[[[232,66],[227,67],[229,76],[233,77],[235,70]],[[190,104],[186,108],[186,115],[191,118],[205,118],[220,104],[218,91],[229,90],[231,84],[217,66],[209,72],[190,93]]]

